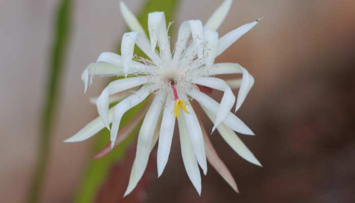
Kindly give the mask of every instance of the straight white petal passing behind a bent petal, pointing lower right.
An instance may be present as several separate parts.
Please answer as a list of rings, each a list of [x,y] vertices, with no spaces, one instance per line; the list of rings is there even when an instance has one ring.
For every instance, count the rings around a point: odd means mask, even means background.
[[[219,104],[217,101],[209,97],[208,95],[200,92],[200,91],[191,91],[189,95],[194,98],[198,103],[211,111],[214,115],[218,114]],[[248,126],[243,123],[237,116],[232,113],[228,113],[227,117],[223,121],[228,127],[232,128],[234,131],[254,136],[253,131],[248,128]]]

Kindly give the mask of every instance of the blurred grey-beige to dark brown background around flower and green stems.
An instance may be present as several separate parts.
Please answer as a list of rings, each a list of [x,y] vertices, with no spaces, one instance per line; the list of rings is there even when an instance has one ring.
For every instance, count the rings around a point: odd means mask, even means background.
[[[2,202],[26,202],[38,156],[54,17],[60,2],[0,3]],[[175,28],[187,19],[206,21],[222,2],[180,1]],[[135,13],[144,5],[143,0],[126,3]],[[139,201],[125,198],[124,202],[355,202],[354,11],[353,0],[234,1],[220,35],[259,17],[264,19],[217,62],[238,62],[255,78],[237,115],[256,133],[240,138],[263,167],[241,159],[216,132],[210,139],[240,193],[209,166],[199,197],[184,170],[175,133],[163,175],[156,178],[151,156],[144,185],[129,197],[137,195]],[[114,50],[125,29],[118,0],[73,2],[39,202],[73,202],[95,139],[75,144],[63,140],[97,116],[89,98],[97,96],[108,81],[95,78],[89,92],[83,94],[81,73],[99,53]],[[206,118],[204,123],[211,128]],[[128,183],[132,150],[128,149],[123,162],[111,167],[94,194],[96,202],[122,201],[122,191],[117,188],[125,189]]]

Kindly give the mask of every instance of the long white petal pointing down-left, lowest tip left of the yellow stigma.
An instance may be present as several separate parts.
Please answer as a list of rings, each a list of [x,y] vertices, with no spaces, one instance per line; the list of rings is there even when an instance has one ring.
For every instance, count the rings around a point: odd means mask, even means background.
[[[159,115],[165,96],[166,94],[163,93],[155,96],[152,105],[149,108],[146,117],[144,118],[142,126],[140,127],[135,159],[133,162],[131,175],[129,177],[128,187],[124,196],[129,194],[135,188],[146,170],[151,152],[154,131],[159,120]]]

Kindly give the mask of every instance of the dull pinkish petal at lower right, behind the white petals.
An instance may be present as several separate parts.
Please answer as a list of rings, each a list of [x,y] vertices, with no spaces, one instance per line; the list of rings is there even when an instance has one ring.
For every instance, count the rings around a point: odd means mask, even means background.
[[[237,188],[237,184],[235,183],[232,174],[229,172],[227,166],[223,163],[221,158],[218,156],[215,148],[213,147],[211,141],[208,138],[206,129],[204,128],[201,120],[199,121],[202,129],[204,146],[206,149],[206,157],[208,162],[212,165],[212,167],[215,168],[215,170],[222,176],[222,178],[233,188],[234,191],[239,192]]]

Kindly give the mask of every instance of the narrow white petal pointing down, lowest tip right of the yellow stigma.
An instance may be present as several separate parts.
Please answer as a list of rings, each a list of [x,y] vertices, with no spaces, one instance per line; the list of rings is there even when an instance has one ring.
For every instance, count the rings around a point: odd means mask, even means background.
[[[193,146],[189,138],[189,132],[187,130],[184,114],[180,115],[177,121],[179,122],[180,146],[181,146],[181,154],[183,156],[185,170],[192,184],[196,188],[198,194],[201,195],[200,170],[198,168]]]

